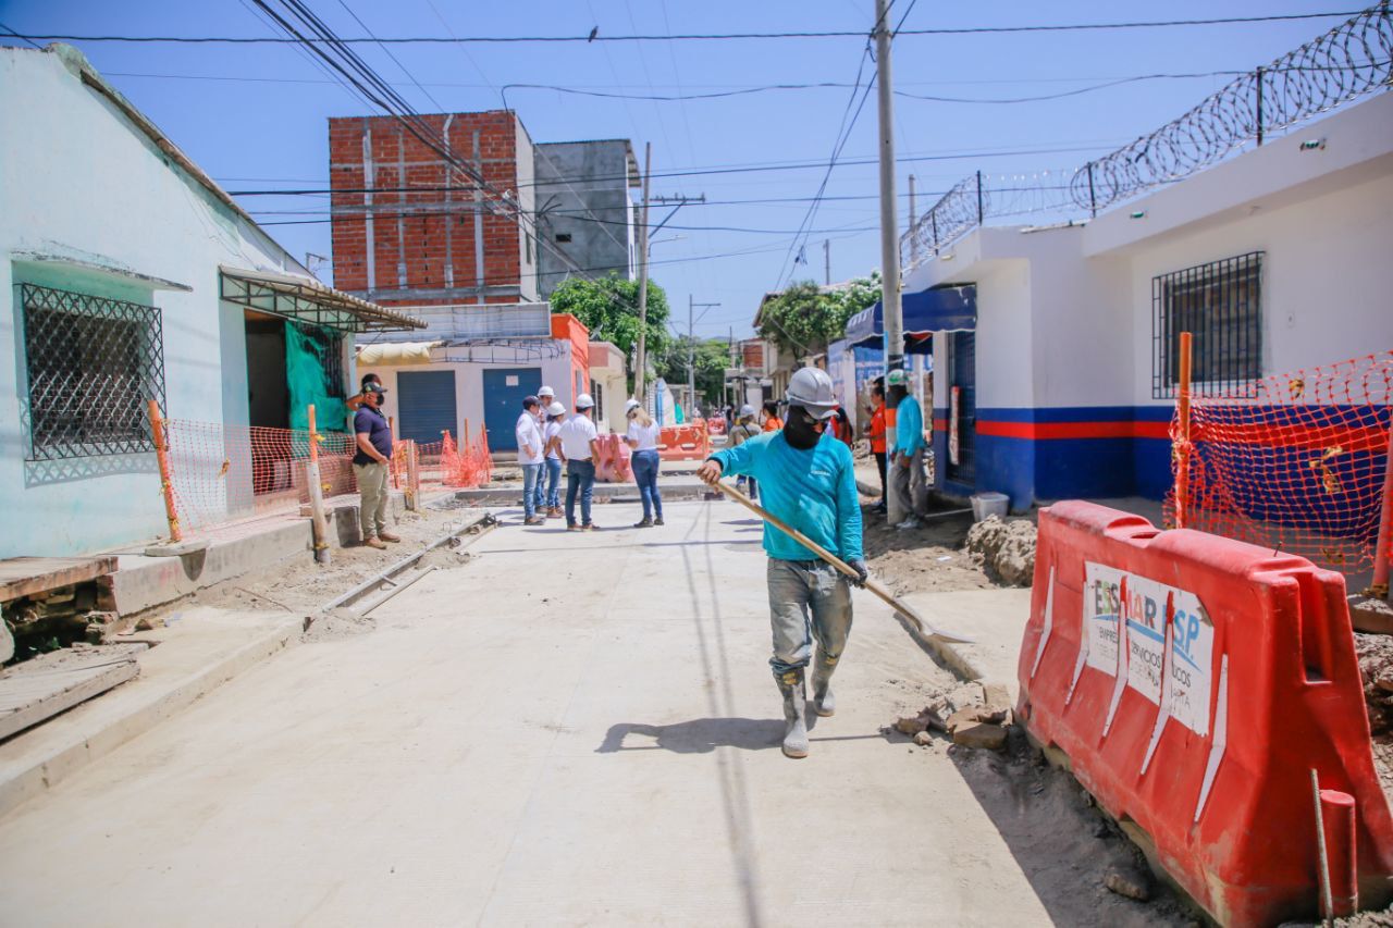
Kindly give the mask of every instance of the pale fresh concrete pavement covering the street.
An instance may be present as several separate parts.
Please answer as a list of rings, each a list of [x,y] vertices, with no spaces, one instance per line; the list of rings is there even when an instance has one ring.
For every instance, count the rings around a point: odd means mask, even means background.
[[[759,525],[596,507],[481,538],[0,819],[26,925],[1046,924],[942,744],[949,673],[857,595],[837,715],[779,748]],[[617,528],[623,525],[624,528]]]

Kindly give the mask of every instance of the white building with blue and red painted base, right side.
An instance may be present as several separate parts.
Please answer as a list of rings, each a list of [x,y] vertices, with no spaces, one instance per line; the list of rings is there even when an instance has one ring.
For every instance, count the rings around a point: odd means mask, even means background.
[[[904,279],[975,288],[975,330],[935,336],[940,486],[1162,497],[1178,332],[1197,382],[1390,348],[1390,242],[1387,93],[1092,222],[975,229]]]

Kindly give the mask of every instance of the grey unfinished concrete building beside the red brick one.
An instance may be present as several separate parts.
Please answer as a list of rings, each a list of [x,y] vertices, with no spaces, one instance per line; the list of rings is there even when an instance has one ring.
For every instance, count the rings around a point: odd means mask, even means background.
[[[628,152],[617,139],[536,146],[538,231],[550,242],[540,248],[543,300],[568,276],[632,276]]]

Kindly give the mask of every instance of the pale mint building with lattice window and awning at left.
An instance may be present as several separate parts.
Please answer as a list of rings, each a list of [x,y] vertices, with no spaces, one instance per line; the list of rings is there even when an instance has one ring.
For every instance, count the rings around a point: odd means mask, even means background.
[[[70,46],[0,47],[0,557],[166,534],[152,399],[219,436],[203,502],[251,513],[284,488],[248,426],[343,396],[352,333],[419,325],[322,286]]]

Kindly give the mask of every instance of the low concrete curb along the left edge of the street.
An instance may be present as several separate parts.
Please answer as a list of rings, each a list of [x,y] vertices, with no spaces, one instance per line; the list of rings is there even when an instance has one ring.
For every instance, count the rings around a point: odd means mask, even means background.
[[[238,673],[279,651],[299,644],[302,628],[304,619],[287,617],[266,634],[219,658],[202,670],[191,673],[173,687],[162,693],[150,693],[142,704],[132,706],[125,715],[110,720],[93,720],[89,730],[74,732],[65,744],[33,758],[29,766],[0,782],[0,815],[10,814],[92,761],[149,732]],[[24,737],[24,734],[15,737]]]

